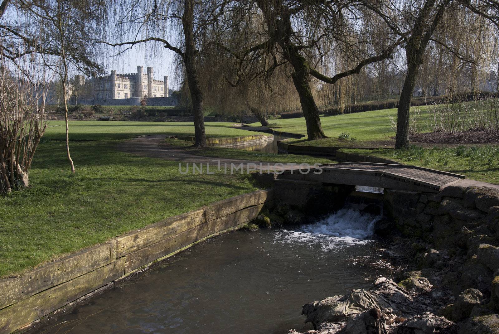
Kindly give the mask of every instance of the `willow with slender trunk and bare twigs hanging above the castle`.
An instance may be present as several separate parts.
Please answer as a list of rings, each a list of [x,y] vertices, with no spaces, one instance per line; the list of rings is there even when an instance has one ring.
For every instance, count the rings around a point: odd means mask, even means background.
[[[112,0],[108,1],[108,8],[116,21],[107,22],[106,40],[101,42],[121,47],[119,53],[135,45],[147,47],[152,53],[158,48],[175,52],[189,88],[194,146],[207,146],[199,57],[209,52],[211,27],[223,14],[225,1]]]

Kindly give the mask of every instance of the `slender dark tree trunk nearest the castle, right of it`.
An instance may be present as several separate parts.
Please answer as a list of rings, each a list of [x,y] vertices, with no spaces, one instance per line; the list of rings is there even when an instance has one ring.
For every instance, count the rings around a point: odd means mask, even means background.
[[[205,115],[203,112],[203,92],[199,83],[198,72],[195,65],[197,54],[194,43],[194,6],[195,0],[185,0],[184,14],[182,15],[182,25],[186,48],[183,59],[186,67],[186,77],[191,92],[192,109],[194,113],[194,146],[206,147]]]

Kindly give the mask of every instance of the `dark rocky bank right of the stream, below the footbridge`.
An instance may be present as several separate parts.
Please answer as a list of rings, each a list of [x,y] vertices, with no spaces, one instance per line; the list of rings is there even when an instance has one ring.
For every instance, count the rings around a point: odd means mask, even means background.
[[[376,232],[412,270],[304,305],[305,333],[499,334],[499,192],[389,190],[384,202]]]

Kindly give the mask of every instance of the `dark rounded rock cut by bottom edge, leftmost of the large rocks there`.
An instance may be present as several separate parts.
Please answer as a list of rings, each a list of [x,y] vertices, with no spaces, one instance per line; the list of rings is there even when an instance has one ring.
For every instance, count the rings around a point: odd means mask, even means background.
[[[388,334],[385,329],[386,321],[381,311],[373,308],[359,313],[346,323],[341,334]]]

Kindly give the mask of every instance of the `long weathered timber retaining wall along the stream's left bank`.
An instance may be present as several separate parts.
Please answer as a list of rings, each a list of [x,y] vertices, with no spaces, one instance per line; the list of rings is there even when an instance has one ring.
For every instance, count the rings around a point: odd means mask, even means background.
[[[272,190],[232,197],[0,280],[0,334],[29,328],[155,261],[240,228],[272,205]]]

